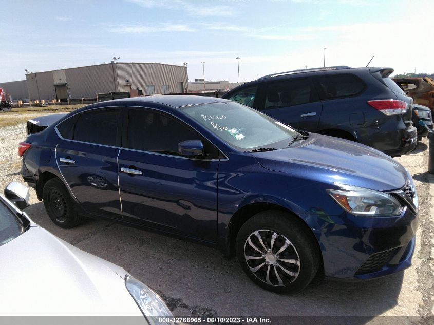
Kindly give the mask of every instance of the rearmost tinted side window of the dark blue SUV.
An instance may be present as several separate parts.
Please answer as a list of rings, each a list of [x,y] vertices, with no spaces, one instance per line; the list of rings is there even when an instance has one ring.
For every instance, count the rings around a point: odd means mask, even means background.
[[[315,77],[314,80],[321,99],[351,97],[361,93],[365,88],[363,81],[353,74],[325,75]],[[395,86],[398,87],[397,84]]]

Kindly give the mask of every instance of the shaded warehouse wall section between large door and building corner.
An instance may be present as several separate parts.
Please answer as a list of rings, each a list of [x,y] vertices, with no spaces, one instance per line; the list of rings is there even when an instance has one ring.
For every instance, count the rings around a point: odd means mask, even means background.
[[[71,98],[93,98],[97,92],[116,91],[112,64],[65,69]]]

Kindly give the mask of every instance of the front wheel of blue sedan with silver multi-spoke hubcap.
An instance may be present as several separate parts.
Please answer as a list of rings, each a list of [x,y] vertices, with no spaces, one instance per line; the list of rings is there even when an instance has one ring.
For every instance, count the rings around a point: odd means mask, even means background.
[[[296,218],[281,211],[263,211],[247,220],[237,234],[241,267],[264,289],[295,293],[316,275],[321,259],[318,244]]]

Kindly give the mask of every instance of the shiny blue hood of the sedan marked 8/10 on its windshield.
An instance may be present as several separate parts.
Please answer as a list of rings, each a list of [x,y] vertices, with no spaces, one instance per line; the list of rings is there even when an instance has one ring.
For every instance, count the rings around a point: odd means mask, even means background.
[[[382,152],[348,140],[309,135],[308,139],[288,148],[252,155],[266,169],[314,181],[380,191],[402,188],[406,184],[405,168]]]

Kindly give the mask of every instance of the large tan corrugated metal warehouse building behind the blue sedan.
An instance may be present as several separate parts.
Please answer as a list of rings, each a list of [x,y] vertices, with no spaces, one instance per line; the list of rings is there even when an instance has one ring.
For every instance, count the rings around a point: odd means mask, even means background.
[[[26,74],[30,100],[95,98],[97,93],[141,89],[143,94],[184,93],[187,67],[112,62]]]

